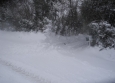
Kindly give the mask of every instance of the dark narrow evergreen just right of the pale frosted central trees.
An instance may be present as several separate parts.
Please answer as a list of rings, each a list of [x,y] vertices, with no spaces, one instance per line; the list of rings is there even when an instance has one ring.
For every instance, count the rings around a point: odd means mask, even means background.
[[[70,10],[67,15],[66,25],[68,26],[68,30],[71,33],[79,34],[82,24],[79,20],[80,18],[79,18],[78,11],[77,11],[78,1],[72,2],[71,0],[69,0],[69,2],[70,2],[70,5],[69,5]]]

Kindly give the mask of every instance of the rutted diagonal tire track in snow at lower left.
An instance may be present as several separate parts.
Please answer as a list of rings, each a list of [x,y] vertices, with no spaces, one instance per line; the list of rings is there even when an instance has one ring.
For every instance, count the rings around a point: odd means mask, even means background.
[[[13,65],[12,63],[2,60],[0,58],[0,64],[9,67],[10,69],[12,69],[13,71],[28,77],[29,79],[31,79],[32,81],[34,81],[35,83],[52,83],[49,80],[46,80],[38,75],[35,75],[34,73],[28,72],[25,69],[23,69],[22,67],[18,67],[16,65]]]

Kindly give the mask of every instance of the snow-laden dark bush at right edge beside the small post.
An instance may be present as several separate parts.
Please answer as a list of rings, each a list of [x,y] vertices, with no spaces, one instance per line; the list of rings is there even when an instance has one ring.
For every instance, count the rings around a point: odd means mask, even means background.
[[[115,48],[115,27],[106,21],[92,22],[89,24],[91,46]]]

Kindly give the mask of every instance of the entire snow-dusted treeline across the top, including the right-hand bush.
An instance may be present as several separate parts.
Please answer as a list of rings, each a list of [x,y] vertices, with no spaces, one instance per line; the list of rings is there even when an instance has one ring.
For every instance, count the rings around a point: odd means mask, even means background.
[[[91,45],[115,47],[114,0],[3,0],[1,23],[15,31],[50,29],[63,36],[88,34]],[[4,28],[2,28],[4,29]]]

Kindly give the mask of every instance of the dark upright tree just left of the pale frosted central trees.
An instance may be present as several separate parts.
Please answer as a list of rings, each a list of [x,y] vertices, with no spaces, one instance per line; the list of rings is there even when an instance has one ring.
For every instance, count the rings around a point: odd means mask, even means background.
[[[49,15],[48,0],[33,0],[35,7],[34,27],[42,30],[43,19]]]

